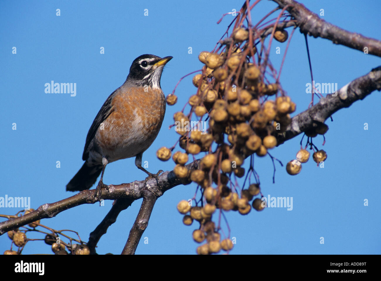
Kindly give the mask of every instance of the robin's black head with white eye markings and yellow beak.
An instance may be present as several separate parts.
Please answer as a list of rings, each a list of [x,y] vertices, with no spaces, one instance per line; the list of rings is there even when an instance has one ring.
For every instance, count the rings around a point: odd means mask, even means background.
[[[126,82],[134,86],[160,89],[160,77],[162,76],[164,65],[172,59],[169,57],[158,57],[154,55],[141,55],[134,59],[130,67],[130,73]]]

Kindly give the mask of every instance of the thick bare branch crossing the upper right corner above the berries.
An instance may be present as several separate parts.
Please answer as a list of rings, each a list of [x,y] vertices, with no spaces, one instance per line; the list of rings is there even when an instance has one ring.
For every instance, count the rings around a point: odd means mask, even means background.
[[[364,51],[381,57],[381,41],[365,37],[359,33],[349,32],[336,25],[320,19],[320,17],[308,10],[303,4],[293,0],[272,0],[279,4],[280,8],[290,5],[286,10],[296,19],[301,33],[307,33],[313,37],[321,37],[331,40],[335,44],[341,44],[352,49]]]

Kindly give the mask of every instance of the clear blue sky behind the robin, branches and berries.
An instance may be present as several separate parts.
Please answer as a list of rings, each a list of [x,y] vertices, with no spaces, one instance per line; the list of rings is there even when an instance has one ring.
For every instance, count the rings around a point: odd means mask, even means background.
[[[243,1],[24,1],[0,2],[0,65],[2,75],[1,138],[2,154],[0,196],[30,197],[32,208],[73,195],[65,191],[68,181],[82,166],[85,138],[109,94],[122,85],[133,59],[141,54],[173,56],[165,67],[161,86],[169,94],[178,79],[201,68],[200,51],[211,51],[225,32],[232,16],[219,25],[221,15],[242,6]],[[381,39],[379,1],[303,1],[307,8],[344,29]],[[253,22],[275,7],[263,1],[253,13]],[[56,9],[61,16],[56,16]],[[148,9],[148,16],[144,16]],[[275,54],[281,47],[282,54]],[[12,48],[17,54],[12,54]],[[99,48],[105,53],[100,54]],[[192,54],[188,54],[192,47]],[[309,37],[314,79],[338,83],[342,87],[352,79],[381,65],[379,57]],[[279,69],[285,43],[274,42],[271,61]],[[167,106],[162,129],[143,154],[149,171],[172,170],[174,163],[161,162],[155,152],[172,146],[178,138],[173,113],[182,109],[195,94],[192,76],[176,90],[178,103]],[[76,83],[75,97],[70,94],[46,94],[45,83]],[[297,103],[294,114],[304,111],[311,99],[306,94],[310,81],[303,35],[297,30],[291,41],[282,71],[283,88]],[[316,98],[315,98],[316,101]],[[231,236],[237,244],[232,254],[380,254],[380,122],[381,97],[374,92],[363,101],[343,109],[327,120],[330,130],[314,143],[325,149],[325,168],[317,168],[312,159],[303,164],[297,176],[290,176],[277,164],[272,184],[270,157],[255,159],[265,196],[293,197],[293,210],[267,208],[247,216],[226,213]],[[189,111],[189,107],[187,108]],[[364,123],[369,129],[364,130]],[[12,124],[17,130],[12,130]],[[300,138],[275,148],[272,155],[283,164],[295,159]],[[176,149],[178,150],[178,149]],[[200,156],[202,156],[200,154]],[[56,168],[56,161],[61,168]],[[246,167],[248,163],[246,163]],[[134,159],[120,160],[106,168],[104,183],[119,184],[146,177],[134,165]],[[192,231],[198,228],[182,224],[176,204],[192,198],[195,185],[178,186],[157,200],[148,228],[136,254],[194,254],[198,246]],[[364,199],[369,205],[364,206]],[[43,224],[54,229],[73,229],[87,241],[111,207],[82,205],[64,211]],[[98,244],[97,252],[119,254],[139,210],[141,200],[123,211]],[[15,214],[19,209],[1,208],[0,213]],[[226,232],[226,225],[223,224]],[[30,235],[41,238],[42,236]],[[319,243],[324,237],[325,244]],[[0,237],[0,249],[11,241]],[[43,242],[28,243],[24,254],[50,253]]]

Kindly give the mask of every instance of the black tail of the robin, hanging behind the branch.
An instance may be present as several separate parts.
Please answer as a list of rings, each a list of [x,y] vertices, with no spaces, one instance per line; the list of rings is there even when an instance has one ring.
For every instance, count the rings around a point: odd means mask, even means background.
[[[83,191],[89,189],[101,174],[102,165],[88,167],[86,162],[66,186],[66,191]]]

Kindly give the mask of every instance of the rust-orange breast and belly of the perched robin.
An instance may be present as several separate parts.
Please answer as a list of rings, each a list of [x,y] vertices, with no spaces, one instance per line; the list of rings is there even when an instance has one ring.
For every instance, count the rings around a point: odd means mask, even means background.
[[[123,85],[112,100],[113,112],[99,127],[96,142],[109,162],[136,156],[157,137],[165,114],[160,89],[132,90]]]

